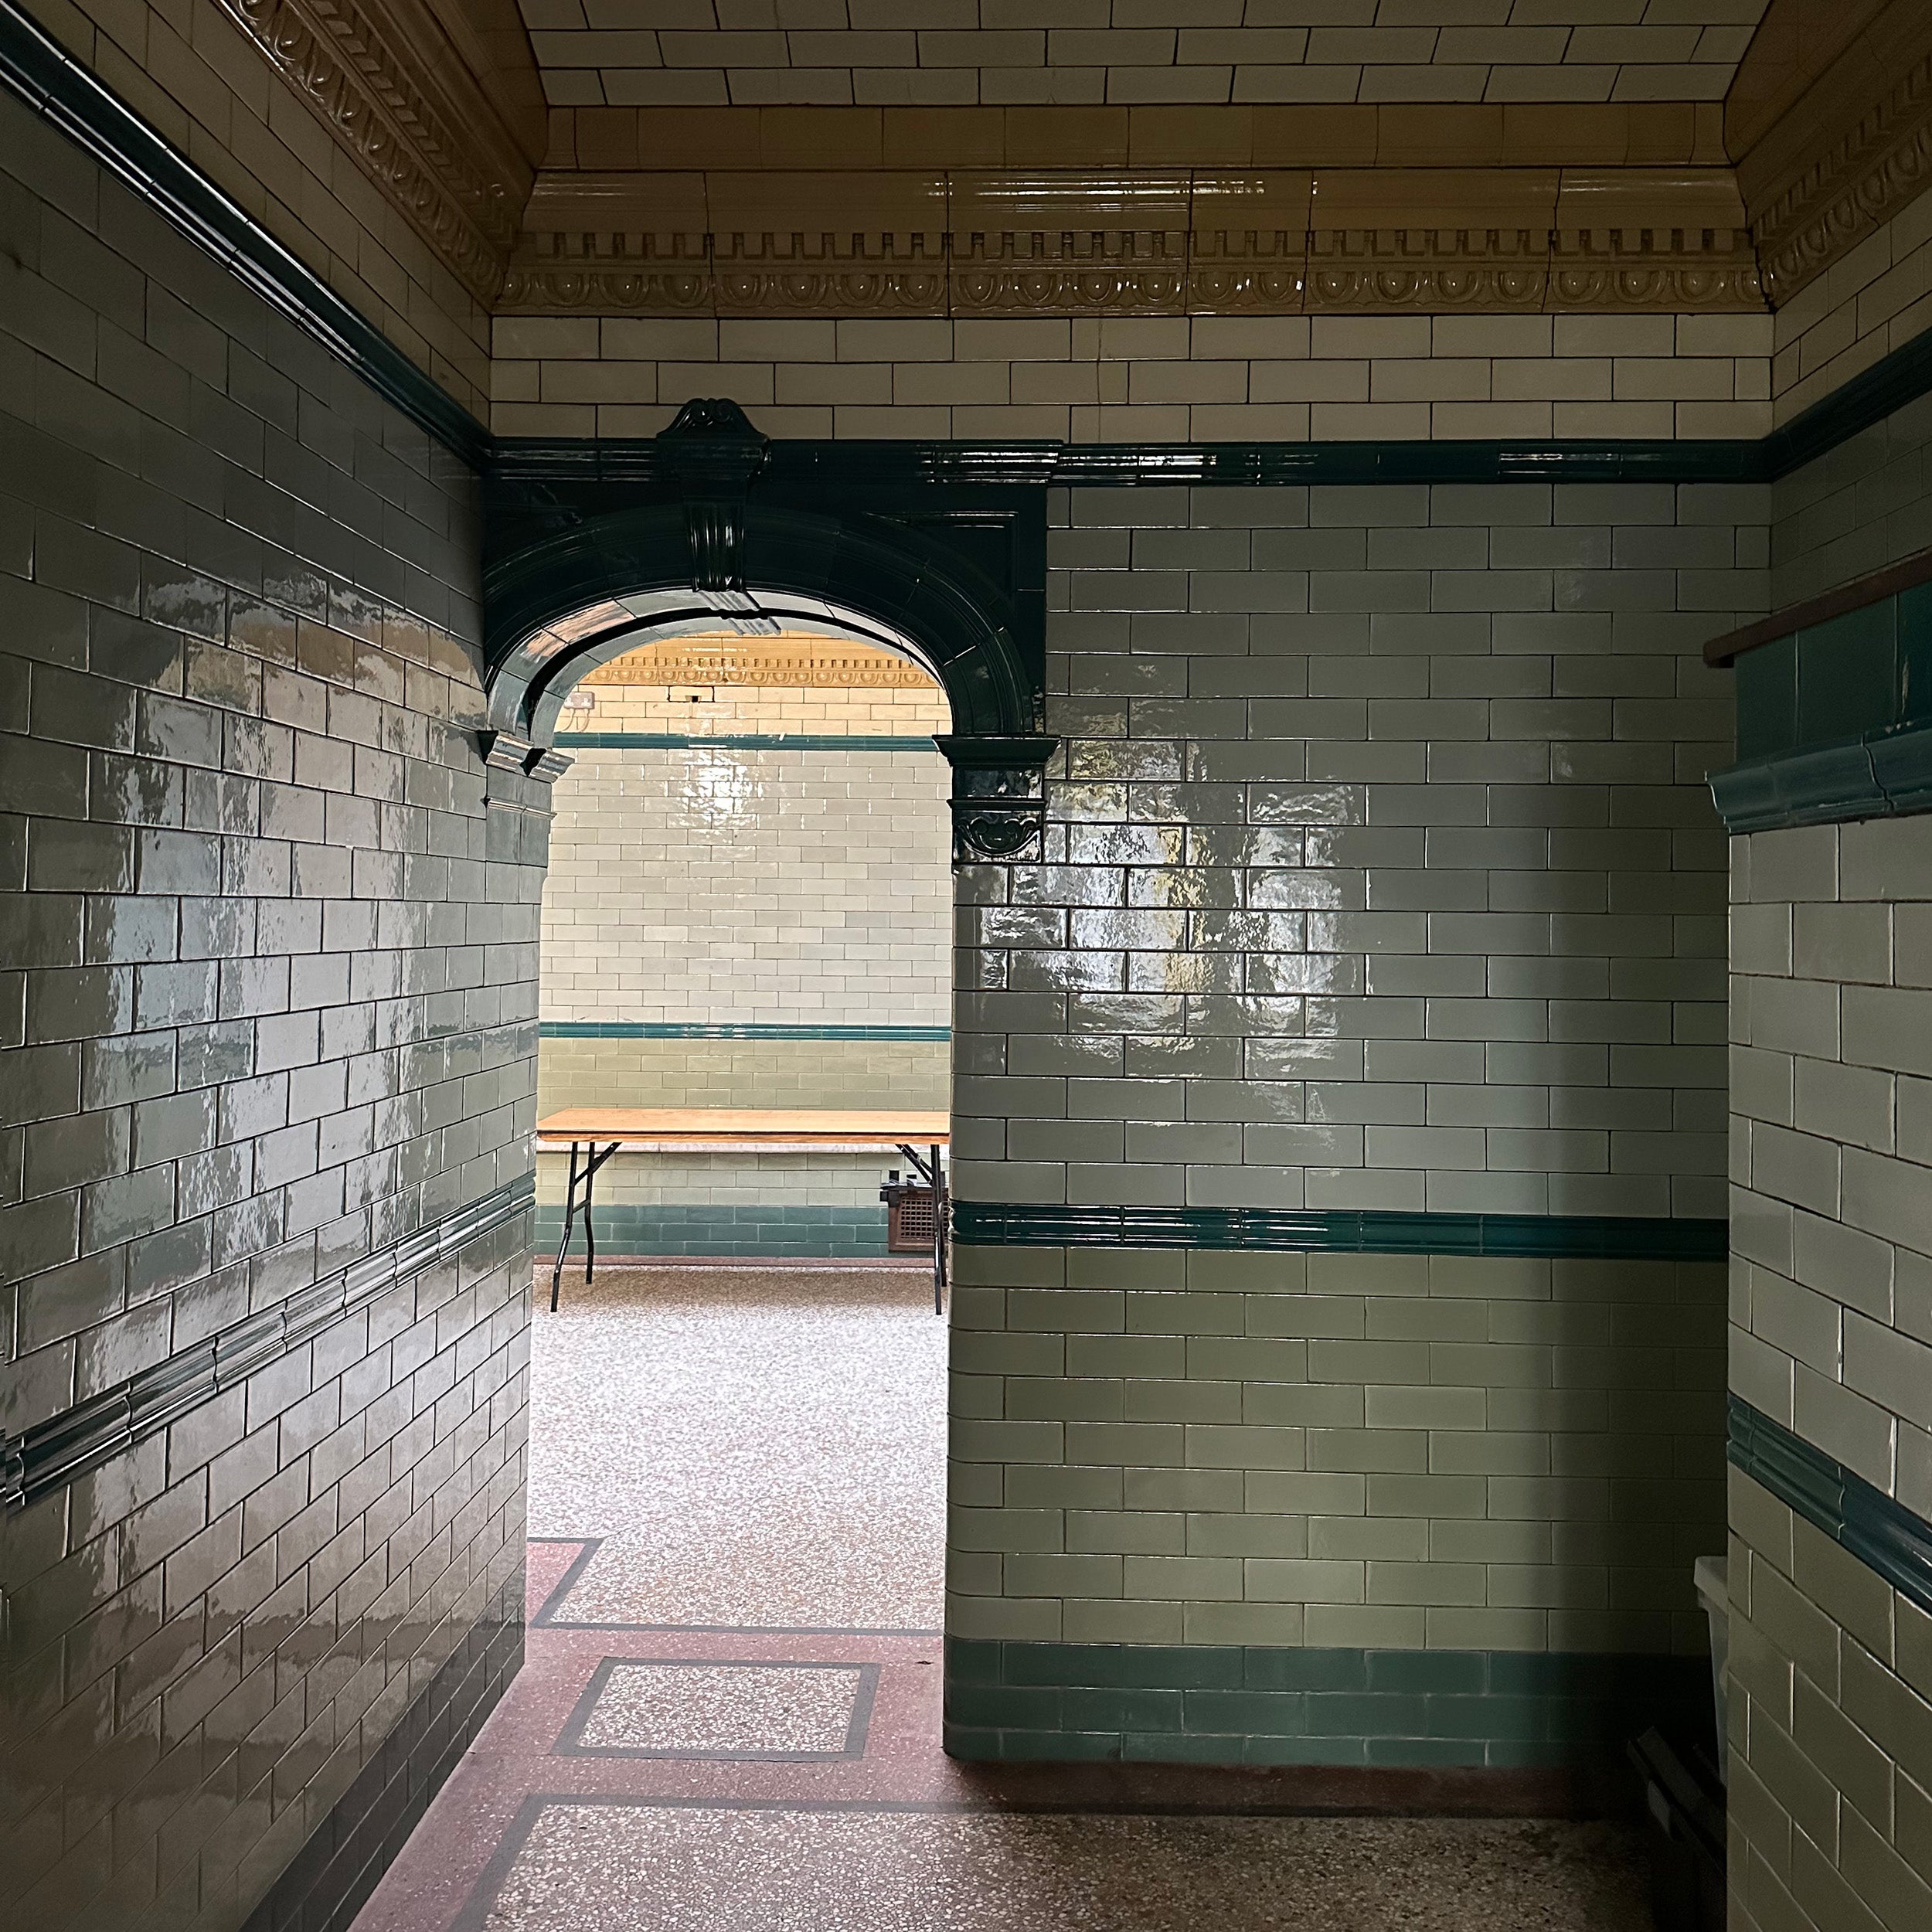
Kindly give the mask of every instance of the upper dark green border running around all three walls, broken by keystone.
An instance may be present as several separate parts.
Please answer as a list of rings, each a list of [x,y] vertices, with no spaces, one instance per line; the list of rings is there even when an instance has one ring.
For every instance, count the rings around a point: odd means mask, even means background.
[[[439,383],[118,100],[15,0],[0,83],[439,442],[508,483],[649,481],[653,440],[491,437]],[[1602,442],[815,442],[775,477],[873,483],[1764,483],[1932,390],[1932,330],[1762,439]]]

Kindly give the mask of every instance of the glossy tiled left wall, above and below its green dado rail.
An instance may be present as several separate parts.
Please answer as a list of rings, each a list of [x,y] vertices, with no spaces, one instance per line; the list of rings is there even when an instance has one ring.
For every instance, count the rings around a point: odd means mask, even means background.
[[[17,1434],[527,1173],[545,817],[473,481],[12,100],[0,156]],[[527,1211],[0,1519],[8,1924],[242,1924],[516,1602],[526,1320]]]

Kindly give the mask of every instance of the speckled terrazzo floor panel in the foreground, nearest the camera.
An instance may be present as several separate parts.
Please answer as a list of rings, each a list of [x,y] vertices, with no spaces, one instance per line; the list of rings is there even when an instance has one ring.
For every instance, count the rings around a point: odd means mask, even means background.
[[[639,1911],[639,1901],[649,1901]],[[1648,1932],[1615,1828],[529,1799],[458,1932]]]

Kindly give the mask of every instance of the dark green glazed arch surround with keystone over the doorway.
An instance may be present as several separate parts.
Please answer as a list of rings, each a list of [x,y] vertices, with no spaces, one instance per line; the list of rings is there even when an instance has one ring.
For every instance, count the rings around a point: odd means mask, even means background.
[[[864,448],[864,446],[860,446]],[[493,763],[541,771],[589,670],[649,639],[804,630],[902,651],[945,688],[954,856],[1041,831],[1045,489],[792,475],[730,402],[692,402],[626,469],[506,475],[491,506]]]

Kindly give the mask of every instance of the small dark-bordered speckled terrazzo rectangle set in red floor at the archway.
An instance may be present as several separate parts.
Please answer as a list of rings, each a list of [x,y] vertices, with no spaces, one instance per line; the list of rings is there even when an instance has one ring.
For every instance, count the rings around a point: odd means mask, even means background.
[[[605,1658],[556,1741],[626,1758],[856,1758],[877,1669]]]

